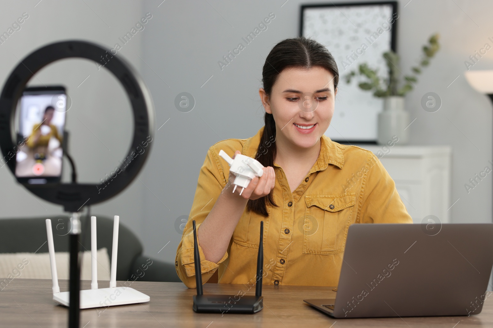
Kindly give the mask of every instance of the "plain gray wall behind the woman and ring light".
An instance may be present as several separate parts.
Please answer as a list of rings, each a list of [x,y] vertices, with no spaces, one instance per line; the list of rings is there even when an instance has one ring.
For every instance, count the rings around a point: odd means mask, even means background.
[[[20,59],[42,44],[65,38],[113,46],[144,13],[153,15],[145,30],[119,52],[141,71],[156,105],[159,130],[152,154],[139,176],[141,181],[134,181],[124,193],[95,206],[93,211],[119,214],[122,222],[140,236],[148,255],[174,262],[180,240],[176,231],[180,222],[176,224],[176,220],[190,211],[207,149],[222,139],[248,138],[263,125],[258,88],[265,57],[275,43],[298,35],[299,7],[305,1],[86,0],[101,18],[84,2],[54,4],[43,0],[32,8],[36,2],[10,4],[0,12],[0,21],[5,22],[0,30],[8,28],[7,23],[22,12],[30,14],[22,30],[0,45],[0,81],[16,64],[13,54]],[[485,43],[493,45],[488,40],[489,36],[493,38],[489,17],[492,9],[486,0],[399,1],[397,48],[404,72],[416,63],[429,35],[441,34],[442,49],[420,77],[417,88],[406,96],[406,108],[411,119],[417,118],[409,127],[410,144],[453,147],[450,205],[458,201],[450,209],[452,222],[492,220],[490,175],[469,194],[464,188],[492,158],[492,105],[486,96],[469,87],[463,75],[464,60]],[[221,70],[217,61],[243,43],[242,37],[271,12],[276,18],[268,29]],[[492,51],[473,69],[492,68]],[[71,148],[77,149],[80,175],[88,181],[104,177],[123,157],[131,130],[130,109],[121,88],[93,65],[80,62],[75,68],[70,66],[67,76],[60,63],[54,65],[53,72],[39,75],[40,79],[70,87],[74,102],[68,116],[73,134]],[[90,78],[77,88],[89,74]],[[344,88],[343,83],[340,88]],[[443,102],[436,113],[427,113],[421,107],[422,96],[430,91],[438,93]],[[192,111],[176,109],[175,97],[180,92],[189,92],[195,98]],[[5,168],[0,169],[0,183],[3,217],[61,213],[58,207],[31,197]]]

